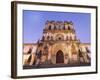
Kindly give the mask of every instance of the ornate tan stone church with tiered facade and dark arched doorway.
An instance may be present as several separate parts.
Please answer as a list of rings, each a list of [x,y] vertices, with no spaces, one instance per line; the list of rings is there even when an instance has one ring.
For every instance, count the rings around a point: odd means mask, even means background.
[[[23,48],[23,65],[91,62],[90,43],[81,43],[71,21],[46,21],[42,38]]]

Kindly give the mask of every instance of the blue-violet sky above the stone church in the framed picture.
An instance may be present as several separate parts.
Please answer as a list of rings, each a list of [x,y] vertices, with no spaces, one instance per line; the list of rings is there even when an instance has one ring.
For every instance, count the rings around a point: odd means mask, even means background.
[[[51,12],[23,10],[23,42],[36,43],[42,37],[47,20],[72,21],[77,38],[82,43],[90,43],[91,14],[75,12]]]

